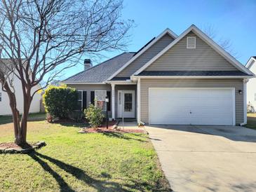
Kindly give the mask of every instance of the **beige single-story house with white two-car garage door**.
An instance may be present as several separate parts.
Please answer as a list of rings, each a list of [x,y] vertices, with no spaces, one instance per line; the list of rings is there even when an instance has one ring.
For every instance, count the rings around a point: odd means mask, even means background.
[[[138,123],[241,125],[246,82],[254,74],[195,25],[166,29],[137,53],[122,53],[64,83],[79,90],[81,109],[95,103],[109,116]],[[103,108],[105,110],[105,107]]]

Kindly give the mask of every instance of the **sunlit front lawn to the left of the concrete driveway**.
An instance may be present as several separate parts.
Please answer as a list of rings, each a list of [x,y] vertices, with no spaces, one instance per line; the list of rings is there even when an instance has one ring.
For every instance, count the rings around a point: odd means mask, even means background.
[[[29,122],[28,140],[47,146],[0,154],[0,191],[170,191],[144,134],[78,134],[74,125]],[[0,125],[0,142],[13,139]]]

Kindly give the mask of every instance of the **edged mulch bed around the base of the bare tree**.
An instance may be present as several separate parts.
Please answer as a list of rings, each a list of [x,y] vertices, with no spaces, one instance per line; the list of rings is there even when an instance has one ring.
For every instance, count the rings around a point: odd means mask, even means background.
[[[25,146],[18,146],[13,142],[6,142],[0,144],[0,153],[30,153],[43,146],[46,146],[45,142],[36,142],[33,144],[26,144]]]

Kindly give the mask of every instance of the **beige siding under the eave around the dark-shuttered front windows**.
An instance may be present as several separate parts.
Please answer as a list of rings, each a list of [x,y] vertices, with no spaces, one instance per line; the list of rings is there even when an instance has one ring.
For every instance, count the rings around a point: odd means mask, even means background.
[[[76,90],[85,90],[86,91],[86,106],[88,107],[90,105],[90,92],[95,90],[107,90],[111,92],[111,85],[68,85],[70,88],[75,88]],[[109,112],[109,117],[112,116],[112,114]]]

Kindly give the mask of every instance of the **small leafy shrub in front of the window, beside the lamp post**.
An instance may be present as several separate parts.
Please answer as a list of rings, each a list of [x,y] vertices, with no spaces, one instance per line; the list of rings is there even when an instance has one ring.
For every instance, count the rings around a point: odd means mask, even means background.
[[[88,109],[84,110],[84,114],[92,128],[97,128],[102,124],[104,114],[102,114],[100,108],[95,107],[93,104],[90,104]]]

